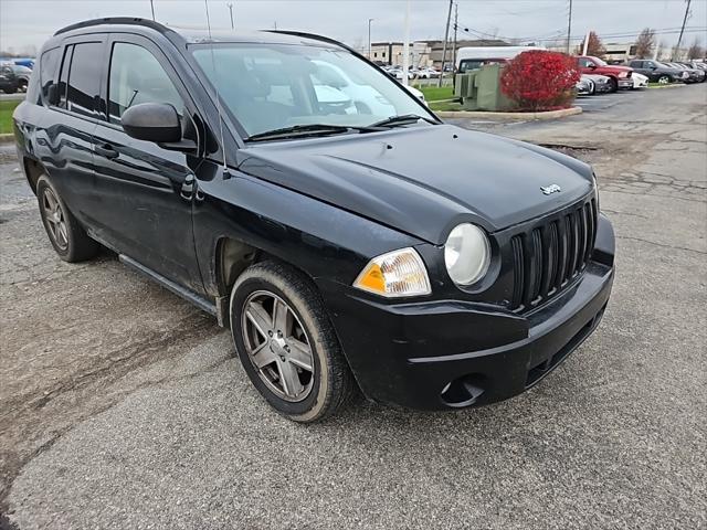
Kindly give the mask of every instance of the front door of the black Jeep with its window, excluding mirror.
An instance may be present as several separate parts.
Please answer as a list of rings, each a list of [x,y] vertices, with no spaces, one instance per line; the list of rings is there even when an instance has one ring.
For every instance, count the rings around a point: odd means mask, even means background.
[[[148,39],[112,34],[104,97],[106,119],[94,131],[95,203],[101,239],[143,265],[202,293],[191,208],[200,158],[129,137],[123,113],[141,103],[169,103],[198,140],[196,108],[165,54]]]

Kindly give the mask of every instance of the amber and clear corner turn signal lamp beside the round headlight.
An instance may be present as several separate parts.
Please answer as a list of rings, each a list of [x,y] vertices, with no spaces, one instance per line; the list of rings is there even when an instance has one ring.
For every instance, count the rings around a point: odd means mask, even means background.
[[[354,287],[388,298],[432,293],[428,271],[413,248],[374,257],[358,275]]]

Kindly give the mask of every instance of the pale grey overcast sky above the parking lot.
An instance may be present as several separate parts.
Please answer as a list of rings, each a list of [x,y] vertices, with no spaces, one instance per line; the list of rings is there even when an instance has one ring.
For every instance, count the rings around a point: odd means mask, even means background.
[[[236,30],[295,29],[325,34],[355,46],[402,40],[405,0],[209,0],[212,28],[230,28],[233,3]],[[205,28],[203,0],[154,0],[158,22]],[[458,0],[458,25],[471,35],[542,41],[567,33],[569,0]],[[411,38],[441,39],[446,0],[411,1]],[[573,0],[572,35],[595,30],[606,42],[632,42],[645,26],[663,30],[665,44],[677,41],[685,0]],[[683,40],[707,41],[707,0],[693,0]],[[27,53],[55,30],[85,19],[112,15],[151,18],[149,0],[0,0],[0,49]]]

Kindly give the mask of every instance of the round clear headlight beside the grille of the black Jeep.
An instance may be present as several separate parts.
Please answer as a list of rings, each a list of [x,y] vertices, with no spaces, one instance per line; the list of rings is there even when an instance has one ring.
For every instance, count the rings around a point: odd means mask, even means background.
[[[458,285],[472,285],[488,271],[490,245],[488,237],[475,224],[457,225],[444,245],[444,263],[452,280]]]

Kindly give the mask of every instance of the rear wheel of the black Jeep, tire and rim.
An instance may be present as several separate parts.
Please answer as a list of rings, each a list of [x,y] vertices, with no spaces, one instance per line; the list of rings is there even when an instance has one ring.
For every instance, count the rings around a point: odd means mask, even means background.
[[[76,263],[96,255],[101,245],[88,237],[46,174],[36,180],[36,199],[49,241],[63,261]]]

